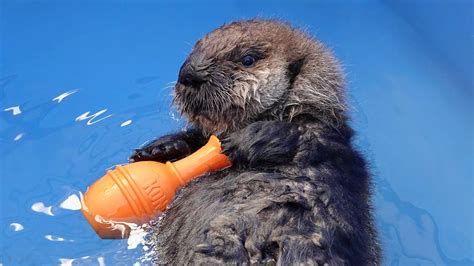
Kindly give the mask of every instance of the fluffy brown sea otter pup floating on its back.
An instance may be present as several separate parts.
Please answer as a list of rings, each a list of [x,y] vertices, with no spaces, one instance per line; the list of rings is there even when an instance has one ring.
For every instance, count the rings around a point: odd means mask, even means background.
[[[379,264],[370,174],[320,42],[279,21],[226,24],[195,44],[174,93],[191,128],[131,161],[180,159],[216,134],[233,166],[178,193],[152,229],[155,263]]]

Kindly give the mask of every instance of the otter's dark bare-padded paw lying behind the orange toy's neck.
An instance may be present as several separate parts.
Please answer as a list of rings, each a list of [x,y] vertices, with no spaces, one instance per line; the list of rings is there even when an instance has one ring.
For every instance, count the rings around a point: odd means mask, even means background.
[[[166,135],[147,143],[142,148],[136,149],[130,156],[129,161],[176,161],[193,153],[203,143],[205,143],[204,136],[194,130]]]

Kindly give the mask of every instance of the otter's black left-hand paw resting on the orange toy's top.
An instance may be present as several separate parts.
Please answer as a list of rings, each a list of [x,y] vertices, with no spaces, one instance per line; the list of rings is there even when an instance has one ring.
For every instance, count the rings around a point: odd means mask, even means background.
[[[164,136],[154,140],[140,149],[136,149],[129,158],[130,162],[176,161],[191,154],[188,143],[173,135]]]

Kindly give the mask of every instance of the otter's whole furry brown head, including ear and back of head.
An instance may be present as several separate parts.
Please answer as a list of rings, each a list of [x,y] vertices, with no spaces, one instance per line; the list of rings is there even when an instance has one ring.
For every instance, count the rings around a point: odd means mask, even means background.
[[[250,20],[199,40],[181,67],[174,102],[208,133],[305,115],[344,120],[342,77],[331,54],[289,25]]]

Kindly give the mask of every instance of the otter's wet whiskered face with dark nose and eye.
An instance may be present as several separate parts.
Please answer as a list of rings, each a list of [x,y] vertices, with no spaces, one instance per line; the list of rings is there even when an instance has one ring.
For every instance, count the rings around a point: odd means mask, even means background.
[[[290,86],[291,30],[272,23],[239,22],[211,32],[181,67],[174,102],[209,133],[242,128],[275,105]]]

